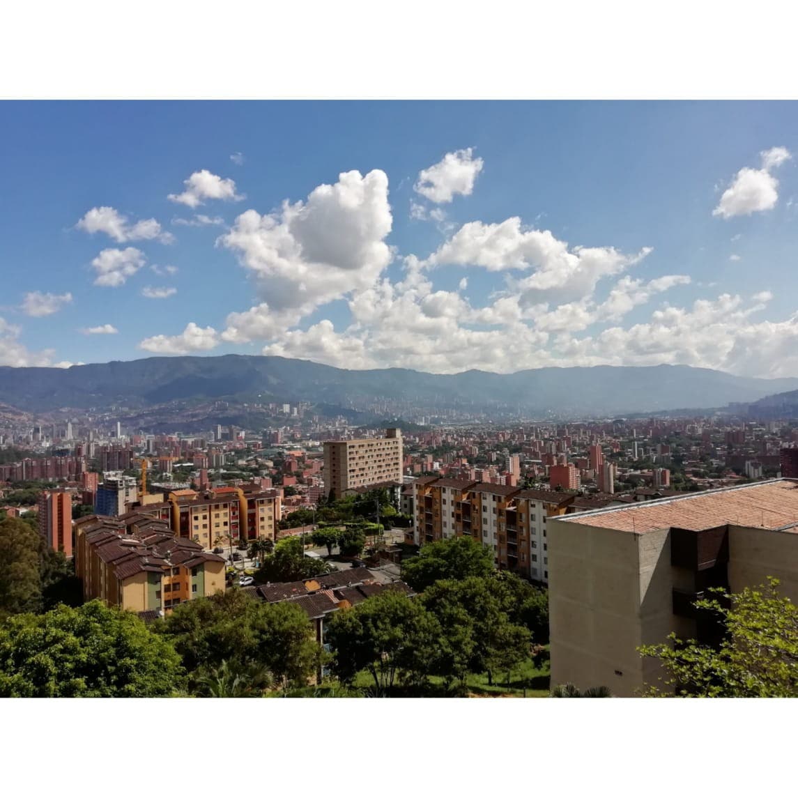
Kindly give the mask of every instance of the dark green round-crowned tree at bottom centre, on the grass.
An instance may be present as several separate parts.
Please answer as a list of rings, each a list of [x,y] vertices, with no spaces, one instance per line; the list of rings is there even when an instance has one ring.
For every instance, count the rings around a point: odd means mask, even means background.
[[[392,689],[400,674],[423,681],[439,636],[440,626],[419,602],[383,591],[330,619],[331,670],[345,685],[367,670],[380,693]]]

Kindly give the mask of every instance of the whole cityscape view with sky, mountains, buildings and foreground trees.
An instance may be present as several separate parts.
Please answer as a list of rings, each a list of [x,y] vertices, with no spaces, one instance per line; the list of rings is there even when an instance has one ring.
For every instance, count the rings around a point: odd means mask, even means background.
[[[795,105],[220,109],[0,104],[0,697],[798,696]]]

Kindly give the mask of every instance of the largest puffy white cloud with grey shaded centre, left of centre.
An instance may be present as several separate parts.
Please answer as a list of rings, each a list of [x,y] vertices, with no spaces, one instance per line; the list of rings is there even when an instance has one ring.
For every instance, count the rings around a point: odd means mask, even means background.
[[[244,212],[217,243],[239,256],[270,312],[301,318],[373,285],[393,259],[385,243],[392,222],[385,172],[343,172],[305,203],[286,200],[279,213],[263,216]]]

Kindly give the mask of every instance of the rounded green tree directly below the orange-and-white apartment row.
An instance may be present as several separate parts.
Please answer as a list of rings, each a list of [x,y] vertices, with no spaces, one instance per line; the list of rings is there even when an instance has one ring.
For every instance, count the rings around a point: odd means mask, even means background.
[[[402,564],[402,579],[414,591],[423,591],[439,579],[488,576],[492,571],[492,552],[463,536],[422,546],[417,557]]]

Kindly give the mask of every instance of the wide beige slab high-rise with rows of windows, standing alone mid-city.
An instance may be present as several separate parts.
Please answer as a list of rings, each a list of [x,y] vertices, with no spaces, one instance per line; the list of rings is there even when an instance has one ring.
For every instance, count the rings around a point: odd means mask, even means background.
[[[384,438],[324,441],[324,486],[336,499],[352,488],[402,481],[401,429]]]

